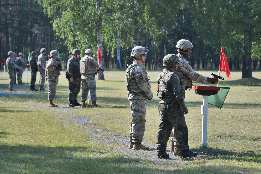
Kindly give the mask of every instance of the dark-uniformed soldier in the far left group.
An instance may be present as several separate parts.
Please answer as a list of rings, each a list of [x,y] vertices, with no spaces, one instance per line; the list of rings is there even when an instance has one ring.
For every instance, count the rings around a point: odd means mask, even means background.
[[[36,73],[38,71],[37,66],[37,53],[35,51],[32,51],[31,57],[29,59],[29,64],[31,67],[31,82],[30,82],[30,91],[38,91],[35,89],[35,81],[36,81]]]

